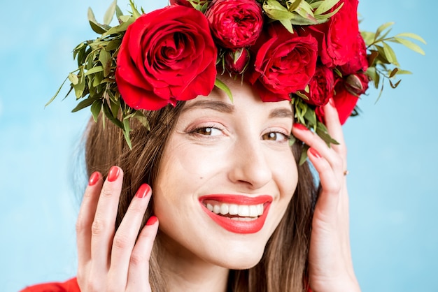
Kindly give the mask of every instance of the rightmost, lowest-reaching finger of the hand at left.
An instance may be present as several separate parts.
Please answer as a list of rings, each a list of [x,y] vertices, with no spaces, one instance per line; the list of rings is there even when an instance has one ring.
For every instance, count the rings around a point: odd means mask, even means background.
[[[139,291],[149,285],[149,259],[158,231],[158,219],[152,216],[141,230],[129,263],[128,291]]]

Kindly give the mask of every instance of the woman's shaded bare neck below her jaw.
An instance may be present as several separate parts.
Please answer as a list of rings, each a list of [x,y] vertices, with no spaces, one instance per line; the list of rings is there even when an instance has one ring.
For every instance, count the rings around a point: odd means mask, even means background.
[[[161,238],[160,268],[172,292],[226,292],[229,269],[214,265]]]

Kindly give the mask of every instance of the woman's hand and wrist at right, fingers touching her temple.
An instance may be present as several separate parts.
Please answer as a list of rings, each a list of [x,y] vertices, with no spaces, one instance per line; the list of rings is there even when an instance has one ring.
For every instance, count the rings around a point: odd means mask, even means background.
[[[346,145],[333,101],[324,108],[325,124],[339,145],[327,144],[315,133],[294,126],[292,133],[310,146],[307,154],[320,178],[309,249],[309,284],[313,292],[360,291],[353,270],[346,185]]]

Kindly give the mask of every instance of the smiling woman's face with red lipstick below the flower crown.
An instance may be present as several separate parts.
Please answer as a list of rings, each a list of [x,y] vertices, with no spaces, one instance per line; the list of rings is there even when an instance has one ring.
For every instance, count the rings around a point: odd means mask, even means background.
[[[257,264],[297,186],[288,101],[227,79],[187,101],[153,189],[165,252],[225,268]]]

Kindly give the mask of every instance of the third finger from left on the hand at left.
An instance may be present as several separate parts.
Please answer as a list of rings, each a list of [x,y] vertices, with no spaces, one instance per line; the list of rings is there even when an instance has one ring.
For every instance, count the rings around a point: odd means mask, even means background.
[[[115,279],[118,275],[126,275],[127,277],[132,250],[134,249],[141,221],[148,207],[151,194],[152,192],[150,191],[149,185],[142,184],[134,198],[132,198],[125,217],[123,217],[115,233],[111,251],[110,279]],[[111,275],[115,277],[111,277]],[[125,286],[119,288],[125,289]]]

